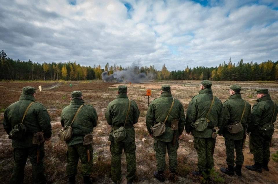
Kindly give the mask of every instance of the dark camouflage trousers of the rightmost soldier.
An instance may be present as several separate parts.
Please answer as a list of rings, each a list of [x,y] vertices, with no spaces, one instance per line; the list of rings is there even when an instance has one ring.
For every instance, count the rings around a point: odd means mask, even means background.
[[[249,147],[250,152],[254,155],[254,161],[260,164],[263,160],[269,160],[270,158],[270,140],[272,136],[258,136],[250,134]]]

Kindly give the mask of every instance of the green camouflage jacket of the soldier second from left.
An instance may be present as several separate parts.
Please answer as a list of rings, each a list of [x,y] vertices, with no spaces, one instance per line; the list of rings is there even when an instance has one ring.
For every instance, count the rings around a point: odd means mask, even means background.
[[[61,125],[69,126],[76,114],[78,108],[84,104],[83,99],[72,99],[69,106],[62,110]],[[66,141],[68,146],[83,143],[84,136],[93,132],[94,127],[98,121],[98,114],[96,109],[91,105],[84,105],[78,112],[74,122],[72,123],[73,136]]]

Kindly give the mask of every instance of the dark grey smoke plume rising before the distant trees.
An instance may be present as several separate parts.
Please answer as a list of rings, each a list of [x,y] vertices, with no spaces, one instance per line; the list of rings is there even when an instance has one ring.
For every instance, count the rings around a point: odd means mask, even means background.
[[[153,79],[153,75],[149,74],[148,76],[145,73],[139,73],[139,67],[133,64],[127,70],[117,70],[113,74],[108,75],[108,72],[105,71],[101,74],[102,79],[105,82],[132,82],[132,83],[141,83],[146,82],[147,80]]]

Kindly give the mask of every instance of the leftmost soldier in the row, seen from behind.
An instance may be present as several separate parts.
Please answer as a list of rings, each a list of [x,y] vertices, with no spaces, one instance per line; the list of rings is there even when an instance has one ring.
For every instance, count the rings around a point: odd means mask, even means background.
[[[23,87],[19,101],[13,103],[5,110],[3,126],[7,134],[10,134],[16,124],[21,123],[25,110],[31,102],[35,102],[35,97],[36,89],[34,87]],[[28,156],[32,164],[34,182],[39,184],[46,183],[43,163],[45,155],[44,144],[41,143],[38,148],[37,144],[32,144],[32,138],[34,133],[43,131],[45,140],[50,140],[52,134],[50,121],[50,116],[42,104],[35,102],[30,106],[23,121],[23,125],[28,129],[24,138],[12,140],[14,170],[10,183],[23,183],[24,167]],[[37,149],[40,150],[38,163]]]

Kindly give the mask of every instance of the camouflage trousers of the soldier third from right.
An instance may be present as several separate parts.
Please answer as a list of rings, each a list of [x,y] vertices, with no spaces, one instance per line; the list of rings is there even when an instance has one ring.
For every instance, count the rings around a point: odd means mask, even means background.
[[[206,171],[214,166],[213,155],[213,138],[198,138],[194,137],[194,148],[197,151],[199,171]]]

